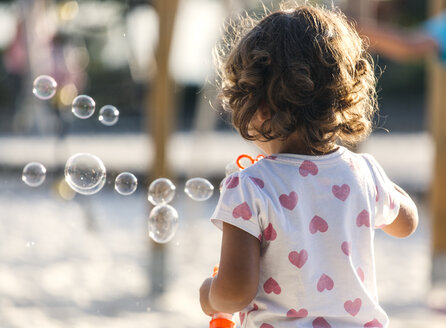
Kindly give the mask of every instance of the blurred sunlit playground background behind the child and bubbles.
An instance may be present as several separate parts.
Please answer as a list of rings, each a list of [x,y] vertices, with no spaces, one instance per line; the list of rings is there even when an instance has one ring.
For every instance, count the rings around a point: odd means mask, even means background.
[[[367,26],[419,36],[429,17],[446,10],[441,0],[333,3],[365,36]],[[223,23],[245,10],[264,12],[257,0],[0,1],[1,328],[208,325],[198,288],[220,247],[208,218],[227,164],[258,154],[215,99],[213,46]],[[377,47],[373,54],[381,111],[358,151],[381,162],[420,214],[407,239],[376,234],[378,287],[391,327],[446,327],[446,66],[439,52],[398,58]],[[58,84],[49,100],[32,91],[43,74]],[[78,95],[96,101],[89,119],[72,114]],[[120,112],[112,126],[98,120],[107,104]],[[97,194],[77,194],[65,183],[65,163],[78,152],[104,162],[106,183]],[[47,172],[32,188],[22,170],[35,161]],[[123,171],[138,178],[130,196],[114,190]],[[147,188],[159,177],[176,185],[171,205],[179,213],[178,231],[163,245],[147,233]],[[209,200],[185,195],[192,177],[214,185]]]

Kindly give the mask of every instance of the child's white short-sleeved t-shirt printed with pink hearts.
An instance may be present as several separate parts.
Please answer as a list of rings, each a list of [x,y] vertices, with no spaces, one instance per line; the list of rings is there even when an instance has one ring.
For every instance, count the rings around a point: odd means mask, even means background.
[[[227,177],[212,222],[261,241],[260,281],[243,328],[387,327],[378,303],[374,228],[398,192],[367,154],[276,154]]]

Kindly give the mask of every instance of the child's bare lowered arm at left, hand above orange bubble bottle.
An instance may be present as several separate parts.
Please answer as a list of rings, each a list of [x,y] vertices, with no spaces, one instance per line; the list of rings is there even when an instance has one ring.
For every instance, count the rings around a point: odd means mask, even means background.
[[[249,233],[223,223],[218,275],[200,288],[200,303],[208,315],[242,310],[255,297],[259,284],[260,242]]]

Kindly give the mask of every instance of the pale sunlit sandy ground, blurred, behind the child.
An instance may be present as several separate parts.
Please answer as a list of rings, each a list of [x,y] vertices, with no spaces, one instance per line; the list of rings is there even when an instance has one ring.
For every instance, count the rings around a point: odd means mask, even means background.
[[[373,149],[382,146],[373,142]],[[218,262],[220,232],[207,219],[218,192],[194,202],[182,192],[184,182],[177,181],[172,205],[180,226],[164,247],[166,270],[159,281],[154,278],[158,248],[146,231],[146,190],[125,197],[108,183],[96,195],[64,200],[55,192],[56,178],[29,188],[20,172],[0,172],[1,328],[207,327],[198,287]],[[424,188],[409,180],[418,186],[414,190]],[[393,328],[446,327],[446,286],[431,285],[423,194],[416,197],[420,227],[413,236],[376,235],[380,299]],[[155,297],[153,285],[164,292]]]

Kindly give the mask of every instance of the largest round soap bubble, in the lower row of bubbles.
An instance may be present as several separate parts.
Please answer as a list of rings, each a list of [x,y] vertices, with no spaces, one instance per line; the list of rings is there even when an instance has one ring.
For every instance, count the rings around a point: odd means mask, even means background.
[[[92,195],[104,187],[106,170],[104,163],[95,155],[78,153],[65,164],[65,181],[76,192]]]

